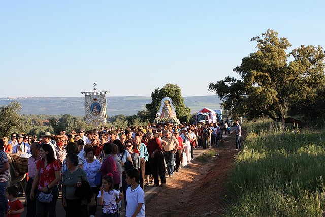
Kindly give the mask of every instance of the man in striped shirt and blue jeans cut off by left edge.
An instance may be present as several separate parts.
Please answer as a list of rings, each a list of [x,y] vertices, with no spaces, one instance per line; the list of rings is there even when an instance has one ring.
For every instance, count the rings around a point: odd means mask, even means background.
[[[7,213],[8,200],[5,189],[9,181],[9,163],[7,154],[4,152],[4,142],[0,139],[0,217]]]

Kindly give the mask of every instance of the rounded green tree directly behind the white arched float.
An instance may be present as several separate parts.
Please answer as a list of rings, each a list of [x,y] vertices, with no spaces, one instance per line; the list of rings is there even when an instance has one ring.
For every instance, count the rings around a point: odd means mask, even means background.
[[[166,84],[163,88],[157,88],[152,92],[152,102],[146,104],[149,118],[153,120],[156,117],[156,113],[159,111],[161,105],[161,100],[163,100],[164,97],[170,97],[173,100],[177,118],[180,121],[188,122],[190,118],[190,108],[185,107],[184,98],[182,97],[179,86],[170,83]]]

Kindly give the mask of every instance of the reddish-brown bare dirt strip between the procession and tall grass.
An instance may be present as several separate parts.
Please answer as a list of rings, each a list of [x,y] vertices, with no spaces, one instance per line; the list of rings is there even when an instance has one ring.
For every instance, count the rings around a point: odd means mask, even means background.
[[[220,216],[229,204],[225,183],[237,154],[235,133],[214,149],[218,156],[194,161],[146,201],[146,216]]]

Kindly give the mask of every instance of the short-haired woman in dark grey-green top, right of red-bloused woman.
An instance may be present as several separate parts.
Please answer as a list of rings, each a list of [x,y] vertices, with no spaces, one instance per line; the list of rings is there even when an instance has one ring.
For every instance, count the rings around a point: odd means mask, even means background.
[[[62,179],[62,204],[66,207],[67,217],[79,217],[87,212],[87,209],[82,206],[82,198],[75,196],[76,188],[81,187],[82,181],[88,181],[86,172],[78,167],[78,162],[77,154],[67,154],[67,170]]]

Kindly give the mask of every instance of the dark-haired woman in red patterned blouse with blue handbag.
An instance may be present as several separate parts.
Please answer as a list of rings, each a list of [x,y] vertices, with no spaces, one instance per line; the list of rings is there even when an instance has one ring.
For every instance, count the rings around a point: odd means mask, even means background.
[[[54,158],[51,145],[43,144],[40,149],[41,161],[36,164],[30,199],[36,200],[36,216],[56,216],[56,201],[59,197],[57,183],[61,179],[61,165]],[[37,190],[35,196],[35,189]]]

